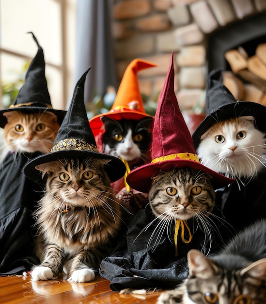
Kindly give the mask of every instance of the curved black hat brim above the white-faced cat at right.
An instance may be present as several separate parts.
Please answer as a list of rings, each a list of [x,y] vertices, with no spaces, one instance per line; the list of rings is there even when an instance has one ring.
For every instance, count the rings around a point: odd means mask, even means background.
[[[266,132],[266,106],[252,101],[232,102],[207,115],[198,125],[192,134],[195,148],[198,148],[201,136],[215,123],[243,116],[252,116],[255,127],[262,132]]]

